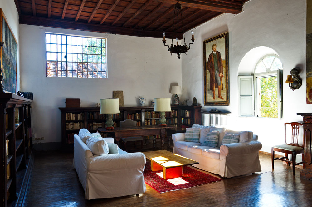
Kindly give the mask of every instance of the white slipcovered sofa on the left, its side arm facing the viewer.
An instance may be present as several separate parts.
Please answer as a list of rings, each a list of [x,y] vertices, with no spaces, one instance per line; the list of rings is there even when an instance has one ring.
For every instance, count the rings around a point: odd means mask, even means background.
[[[103,138],[114,143],[114,138]],[[93,155],[78,135],[74,135],[74,161],[85,199],[112,198],[146,191],[144,182],[145,155],[127,153]]]

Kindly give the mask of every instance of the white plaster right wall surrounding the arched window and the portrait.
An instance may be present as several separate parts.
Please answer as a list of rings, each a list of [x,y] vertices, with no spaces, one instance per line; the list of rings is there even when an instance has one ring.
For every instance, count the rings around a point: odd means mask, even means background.
[[[271,146],[285,140],[284,123],[302,122],[296,113],[311,113],[312,105],[306,104],[306,1],[305,0],[251,0],[244,4],[238,15],[223,14],[194,28],[195,43],[187,55],[182,55],[183,94],[181,100],[195,96],[203,105],[203,52],[202,42],[218,34],[229,32],[230,105],[203,106],[227,110],[228,128],[252,130],[259,135],[262,151],[271,152]],[[190,31],[185,33],[191,37]],[[280,55],[283,64],[284,118],[256,118],[238,116],[237,75],[238,66],[244,55],[252,48],[266,46]],[[285,83],[292,68],[301,68],[302,87],[292,91]],[[252,71],[254,68],[249,68]],[[301,129],[302,132],[303,129]]]

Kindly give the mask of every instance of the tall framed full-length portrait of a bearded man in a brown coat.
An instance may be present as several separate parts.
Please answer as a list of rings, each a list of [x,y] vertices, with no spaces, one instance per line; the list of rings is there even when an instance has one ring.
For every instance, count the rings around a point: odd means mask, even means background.
[[[229,33],[203,41],[204,105],[230,104]]]

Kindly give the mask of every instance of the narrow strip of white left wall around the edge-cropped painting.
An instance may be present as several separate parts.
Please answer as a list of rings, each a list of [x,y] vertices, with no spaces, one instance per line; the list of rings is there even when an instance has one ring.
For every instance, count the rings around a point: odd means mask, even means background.
[[[17,80],[16,80],[16,92],[20,90],[20,41],[19,41],[19,24],[18,13],[14,1],[12,0],[0,0],[0,8],[7,18],[9,26],[17,40]]]

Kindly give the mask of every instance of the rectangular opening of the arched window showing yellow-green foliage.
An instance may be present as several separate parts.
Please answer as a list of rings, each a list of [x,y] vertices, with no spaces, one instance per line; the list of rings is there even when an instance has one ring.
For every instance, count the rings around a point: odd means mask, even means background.
[[[260,78],[261,117],[278,117],[276,76]]]

